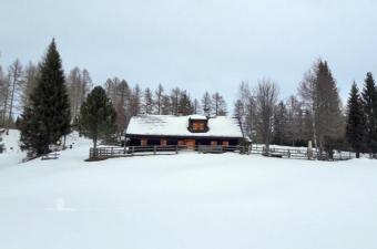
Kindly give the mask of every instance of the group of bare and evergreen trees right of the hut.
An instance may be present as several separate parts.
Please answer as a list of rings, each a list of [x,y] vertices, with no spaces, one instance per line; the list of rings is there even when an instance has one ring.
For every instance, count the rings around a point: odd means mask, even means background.
[[[262,80],[255,87],[242,82],[234,114],[254,143],[307,146],[323,158],[334,149],[377,153],[377,89],[367,73],[363,92],[353,84],[347,106],[339,97],[336,81],[326,61],[318,60],[297,86],[297,94],[278,98],[278,86]]]

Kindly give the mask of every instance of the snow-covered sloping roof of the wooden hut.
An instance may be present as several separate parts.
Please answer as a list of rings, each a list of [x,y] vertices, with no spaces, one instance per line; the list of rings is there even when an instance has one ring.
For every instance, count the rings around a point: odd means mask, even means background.
[[[139,115],[131,118],[128,135],[163,136],[213,136],[243,137],[238,121],[233,117],[217,116],[208,120],[208,131],[192,133],[187,129],[188,120],[203,120],[204,116]],[[206,118],[206,117],[204,117]]]

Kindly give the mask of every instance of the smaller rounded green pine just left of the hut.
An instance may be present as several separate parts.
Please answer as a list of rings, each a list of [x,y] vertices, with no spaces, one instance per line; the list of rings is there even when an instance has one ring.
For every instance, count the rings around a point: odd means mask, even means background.
[[[95,86],[80,110],[82,133],[93,139],[93,147],[96,148],[99,139],[116,131],[115,121],[116,113],[113,104],[105,91],[101,86]]]

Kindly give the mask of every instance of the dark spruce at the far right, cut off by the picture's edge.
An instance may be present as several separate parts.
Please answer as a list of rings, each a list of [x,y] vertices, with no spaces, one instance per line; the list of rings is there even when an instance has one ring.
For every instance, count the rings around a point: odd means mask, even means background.
[[[377,89],[371,73],[367,73],[361,93],[366,115],[366,144],[370,154],[377,153]]]

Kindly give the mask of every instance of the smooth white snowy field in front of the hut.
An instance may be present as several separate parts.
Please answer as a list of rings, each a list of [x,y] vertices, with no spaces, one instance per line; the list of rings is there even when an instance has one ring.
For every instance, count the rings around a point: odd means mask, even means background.
[[[182,153],[85,163],[89,146],[75,141],[58,160],[0,155],[1,249],[377,247],[376,160]]]

